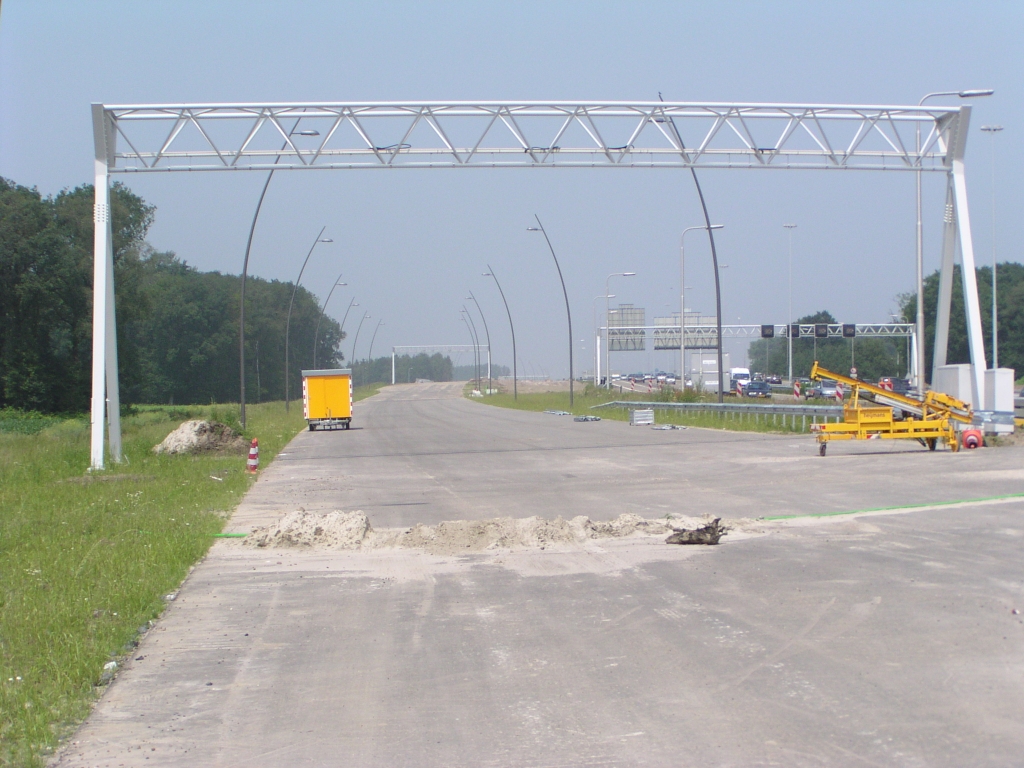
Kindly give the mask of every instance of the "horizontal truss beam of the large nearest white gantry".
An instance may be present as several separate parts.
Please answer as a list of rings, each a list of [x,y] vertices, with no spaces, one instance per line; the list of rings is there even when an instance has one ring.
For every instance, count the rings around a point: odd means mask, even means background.
[[[112,173],[499,166],[945,171],[959,115],[948,106],[662,101],[103,108],[114,139],[106,156]]]

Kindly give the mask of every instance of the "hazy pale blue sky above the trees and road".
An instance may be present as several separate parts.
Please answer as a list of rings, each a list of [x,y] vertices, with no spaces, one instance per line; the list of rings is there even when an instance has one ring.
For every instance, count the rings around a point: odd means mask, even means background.
[[[0,10],[0,174],[44,194],[91,181],[89,103],[280,100],[671,100],[916,103],[930,91],[994,88],[976,99],[968,150],[979,263],[1021,260],[1024,5],[1011,2],[48,2]],[[955,101],[956,99],[952,99]],[[948,99],[947,99],[948,101]],[[942,103],[943,100],[936,101]],[[238,272],[262,174],[133,176],[158,208],[151,242],[201,269]],[[783,323],[786,232],[794,313],[883,322],[912,289],[911,174],[705,171],[720,233],[723,319]],[[926,177],[926,269],[938,265],[943,180]],[[678,309],[679,232],[701,223],[679,171],[401,171],[279,174],[252,271],[294,280],[339,319],[353,293],[376,321],[374,349],[468,341],[472,290],[498,362],[511,362],[503,280],[527,373],[564,376],[562,261],[579,368],[593,355],[593,298],[609,272],[617,300],[648,317]],[[690,236],[692,238],[692,236]],[[687,242],[688,306],[714,309],[707,242]],[[352,317],[358,316],[353,311]],[[370,321],[368,321],[369,323]],[[374,324],[376,325],[376,323]],[[354,326],[351,328],[354,331]],[[360,335],[358,356],[367,352]],[[367,342],[364,341],[367,337]],[[350,337],[351,338],[351,337]],[[350,340],[344,346],[348,355]],[[733,350],[734,357],[741,348]],[[668,353],[623,354],[623,370],[673,368]]]

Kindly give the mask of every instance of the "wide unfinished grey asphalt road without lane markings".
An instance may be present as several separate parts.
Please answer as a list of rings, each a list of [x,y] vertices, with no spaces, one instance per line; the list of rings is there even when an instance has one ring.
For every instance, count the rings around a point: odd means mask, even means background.
[[[807,436],[581,424],[445,385],[387,389],[354,424],[299,435],[230,527],[298,507],[377,527],[919,508],[713,548],[221,541],[58,765],[1024,762],[1024,500],[991,499],[1024,493],[1024,449],[820,458]]]

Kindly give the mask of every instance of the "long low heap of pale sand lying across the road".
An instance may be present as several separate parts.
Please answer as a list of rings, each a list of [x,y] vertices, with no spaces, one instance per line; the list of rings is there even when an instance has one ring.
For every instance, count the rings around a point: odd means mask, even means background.
[[[496,517],[489,520],[451,520],[437,525],[375,530],[362,512],[315,513],[299,510],[273,525],[255,528],[243,544],[249,547],[301,547],[370,550],[393,547],[423,549],[432,554],[456,554],[496,549],[538,549],[574,545],[593,539],[672,534],[681,525],[707,522],[698,518],[646,520],[623,514],[610,522],[580,515],[556,517]]]

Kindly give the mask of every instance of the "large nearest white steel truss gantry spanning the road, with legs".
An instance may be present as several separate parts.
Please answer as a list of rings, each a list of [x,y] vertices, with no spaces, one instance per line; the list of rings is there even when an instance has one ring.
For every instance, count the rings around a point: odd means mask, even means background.
[[[964,175],[970,115],[970,106],[662,101],[95,103],[91,466],[104,464],[104,420],[111,455],[121,460],[109,182],[112,174],[127,173],[373,168],[945,173],[935,361],[945,362],[958,245],[978,408],[985,355]]]

